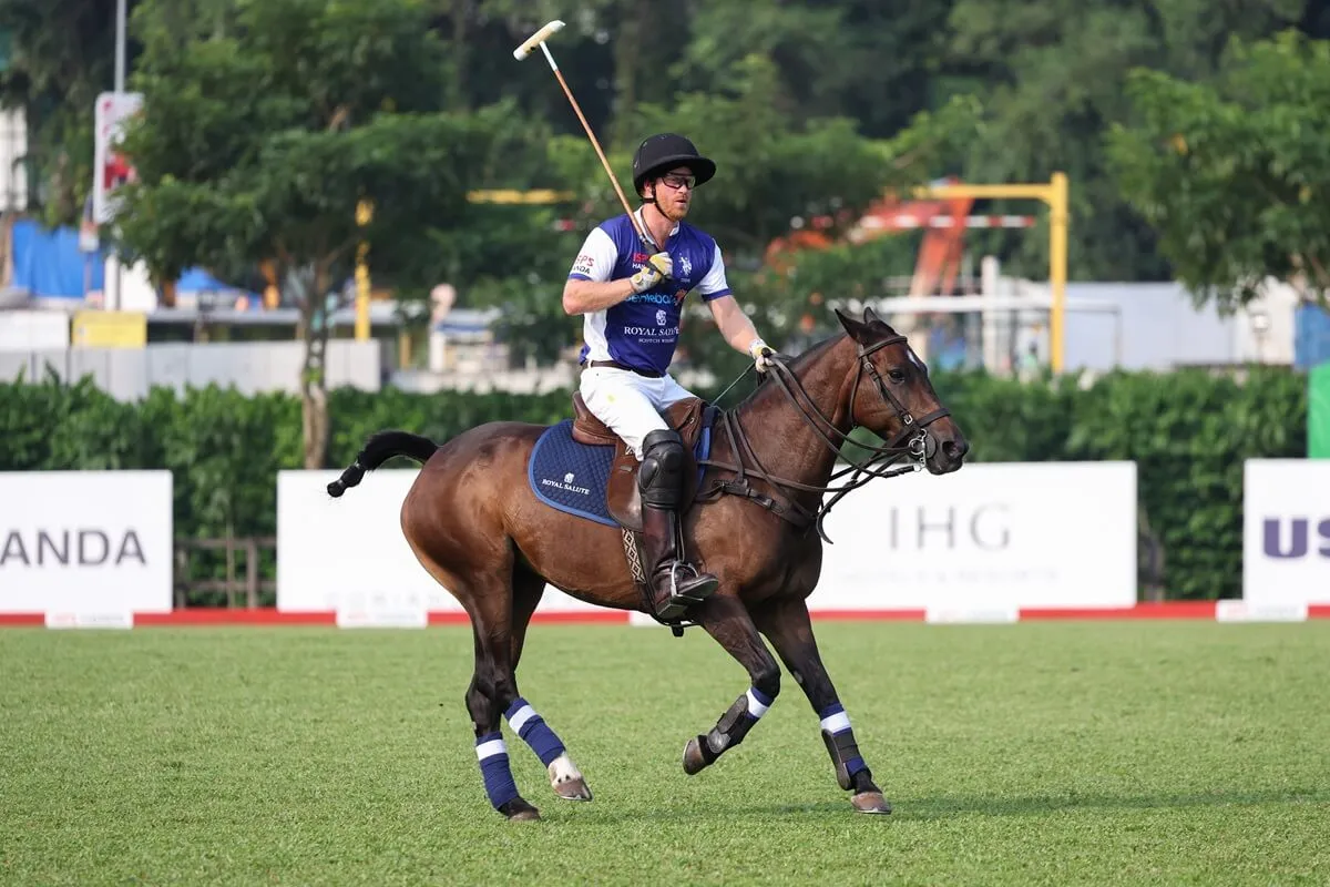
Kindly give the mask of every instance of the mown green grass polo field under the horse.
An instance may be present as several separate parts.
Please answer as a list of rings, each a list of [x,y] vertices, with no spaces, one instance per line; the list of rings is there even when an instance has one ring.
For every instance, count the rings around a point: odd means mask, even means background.
[[[787,678],[685,777],[747,685],[696,632],[533,628],[520,689],[596,799],[509,739],[544,819],[508,823],[469,629],[8,629],[0,882],[1330,883],[1330,624],[818,632],[891,817],[850,810]]]

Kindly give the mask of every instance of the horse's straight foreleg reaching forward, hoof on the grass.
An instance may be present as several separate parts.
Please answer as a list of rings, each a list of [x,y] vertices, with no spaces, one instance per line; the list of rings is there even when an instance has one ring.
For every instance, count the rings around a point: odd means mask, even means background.
[[[850,715],[822,665],[807,604],[802,598],[773,601],[754,613],[754,618],[822,721],[822,741],[831,755],[837,785],[854,793],[851,803],[859,813],[891,813],[891,805],[872,782],[872,771],[855,742]]]

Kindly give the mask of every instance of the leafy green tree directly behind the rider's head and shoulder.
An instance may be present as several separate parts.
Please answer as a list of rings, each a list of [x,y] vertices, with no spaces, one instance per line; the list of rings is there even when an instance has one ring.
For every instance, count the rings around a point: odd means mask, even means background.
[[[693,133],[717,161],[716,178],[698,193],[696,221],[718,238],[735,295],[779,346],[801,328],[810,299],[815,306],[854,291],[879,295],[884,269],[895,263],[906,273],[910,259],[895,241],[795,254],[793,267],[781,270],[766,263],[771,241],[814,218],[830,222],[822,230],[837,241],[886,191],[927,181],[930,160],[972,132],[978,109],[956,98],[918,114],[899,137],[875,141],[849,118],[798,120],[779,100],[781,81],[765,56],[745,57],[734,73],[728,92],[642,106],[638,129]],[[685,323],[682,332],[690,359],[722,375],[738,372],[745,358],[713,335],[705,313],[696,314],[701,323]]]

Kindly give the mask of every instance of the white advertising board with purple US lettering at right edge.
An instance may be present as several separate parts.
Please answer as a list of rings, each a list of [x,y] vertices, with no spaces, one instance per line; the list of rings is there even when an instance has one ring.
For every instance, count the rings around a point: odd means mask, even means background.
[[[1330,460],[1248,459],[1242,523],[1244,601],[1330,604]]]

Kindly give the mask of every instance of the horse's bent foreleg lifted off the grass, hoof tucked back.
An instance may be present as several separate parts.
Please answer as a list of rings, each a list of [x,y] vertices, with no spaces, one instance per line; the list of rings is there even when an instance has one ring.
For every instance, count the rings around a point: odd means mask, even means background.
[[[738,598],[712,597],[694,606],[689,616],[738,660],[750,681],[747,692],[734,701],[709,733],[689,739],[684,746],[684,773],[693,775],[742,742],[758,718],[766,714],[781,693],[781,666],[762,644]]]

